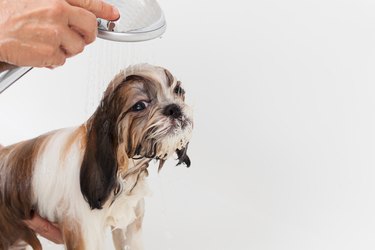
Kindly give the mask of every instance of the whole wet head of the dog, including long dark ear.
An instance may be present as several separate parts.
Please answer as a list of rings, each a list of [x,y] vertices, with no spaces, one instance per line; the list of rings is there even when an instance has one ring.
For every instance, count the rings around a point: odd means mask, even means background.
[[[129,159],[157,159],[161,167],[176,153],[190,166],[192,112],[181,82],[164,68],[142,64],[118,74],[87,127],[81,190],[91,208],[102,207]]]

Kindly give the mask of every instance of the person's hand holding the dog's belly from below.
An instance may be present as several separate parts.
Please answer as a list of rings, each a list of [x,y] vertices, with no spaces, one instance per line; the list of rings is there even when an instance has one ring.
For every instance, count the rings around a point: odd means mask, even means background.
[[[24,221],[26,225],[40,236],[56,243],[63,244],[63,237],[57,225],[43,219],[38,214],[34,214],[31,220]]]

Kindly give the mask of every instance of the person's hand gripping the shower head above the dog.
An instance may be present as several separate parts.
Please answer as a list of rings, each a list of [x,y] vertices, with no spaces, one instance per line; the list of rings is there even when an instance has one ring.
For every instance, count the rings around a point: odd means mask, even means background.
[[[102,0],[0,0],[0,62],[62,65],[95,40],[96,17],[119,13]]]

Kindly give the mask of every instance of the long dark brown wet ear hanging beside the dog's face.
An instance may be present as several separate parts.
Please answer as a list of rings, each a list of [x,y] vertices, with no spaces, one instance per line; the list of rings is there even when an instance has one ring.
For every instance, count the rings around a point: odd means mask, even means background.
[[[87,124],[80,184],[81,192],[92,209],[102,208],[117,183],[117,119],[124,102],[120,91],[123,83],[103,98]]]

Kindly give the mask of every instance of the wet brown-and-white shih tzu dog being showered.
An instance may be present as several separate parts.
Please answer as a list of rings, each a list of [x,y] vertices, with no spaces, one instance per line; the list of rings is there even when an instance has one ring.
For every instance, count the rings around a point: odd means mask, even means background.
[[[91,118],[0,149],[0,249],[23,240],[42,249],[23,220],[33,212],[58,223],[69,250],[142,249],[149,162],[177,153],[190,166],[192,112],[166,69],[135,65],[109,84]]]

